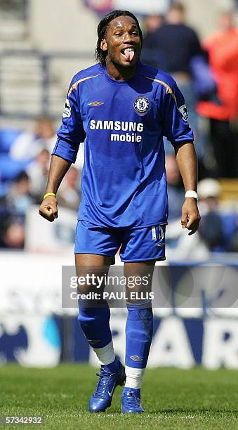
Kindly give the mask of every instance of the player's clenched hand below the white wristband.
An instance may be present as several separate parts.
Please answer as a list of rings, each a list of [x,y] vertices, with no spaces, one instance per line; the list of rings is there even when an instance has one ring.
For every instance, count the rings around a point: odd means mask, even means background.
[[[182,207],[182,228],[190,230],[188,235],[193,235],[199,228],[200,215],[197,209],[197,201],[194,198],[187,198]]]

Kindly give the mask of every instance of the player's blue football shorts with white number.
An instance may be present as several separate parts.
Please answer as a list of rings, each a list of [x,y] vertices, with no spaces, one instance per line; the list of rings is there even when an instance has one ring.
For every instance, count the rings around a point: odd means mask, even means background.
[[[74,254],[99,254],[121,261],[165,260],[165,224],[143,228],[105,228],[78,221]]]

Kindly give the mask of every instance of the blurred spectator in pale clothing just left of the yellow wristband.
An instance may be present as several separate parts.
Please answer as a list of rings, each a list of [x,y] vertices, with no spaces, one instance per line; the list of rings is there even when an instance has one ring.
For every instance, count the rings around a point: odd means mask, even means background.
[[[43,149],[27,169],[30,180],[30,193],[37,204],[41,203],[44,190],[46,189],[49,163],[50,153],[48,150]]]

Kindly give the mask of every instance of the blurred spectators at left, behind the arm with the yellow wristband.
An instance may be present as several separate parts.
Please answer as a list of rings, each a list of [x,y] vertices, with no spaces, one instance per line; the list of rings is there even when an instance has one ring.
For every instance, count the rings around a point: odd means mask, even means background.
[[[32,131],[0,131],[0,247],[24,247],[27,211],[40,204],[56,141],[51,118],[37,119]],[[80,170],[70,167],[58,191],[60,207],[79,209]]]

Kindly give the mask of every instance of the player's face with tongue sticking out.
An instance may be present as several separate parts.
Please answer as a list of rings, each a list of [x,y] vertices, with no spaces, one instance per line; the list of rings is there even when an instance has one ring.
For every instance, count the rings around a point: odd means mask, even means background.
[[[101,48],[107,60],[121,67],[134,67],[140,58],[141,41],[136,22],[130,16],[114,18],[107,27]]]

